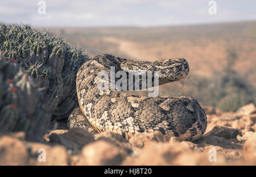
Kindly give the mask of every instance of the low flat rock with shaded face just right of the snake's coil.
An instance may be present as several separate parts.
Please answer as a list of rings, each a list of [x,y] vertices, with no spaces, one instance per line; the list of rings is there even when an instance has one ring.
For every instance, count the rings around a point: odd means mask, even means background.
[[[208,126],[207,133],[205,133],[205,135],[214,135],[214,136],[219,136],[223,138],[236,138],[238,134],[241,134],[241,132],[238,129],[222,127],[219,125]]]

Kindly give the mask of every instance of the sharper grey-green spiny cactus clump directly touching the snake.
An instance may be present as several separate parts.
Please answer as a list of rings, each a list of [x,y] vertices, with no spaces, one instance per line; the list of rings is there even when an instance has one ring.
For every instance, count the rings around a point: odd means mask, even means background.
[[[14,77],[20,64],[34,79],[36,88],[42,90],[48,112],[67,117],[77,104],[76,73],[89,59],[81,48],[66,43],[50,32],[32,29],[29,25],[5,25],[0,23],[0,54],[10,60],[9,69],[14,70],[8,77]],[[23,81],[19,87],[31,88]],[[28,104],[34,102],[27,100]]]

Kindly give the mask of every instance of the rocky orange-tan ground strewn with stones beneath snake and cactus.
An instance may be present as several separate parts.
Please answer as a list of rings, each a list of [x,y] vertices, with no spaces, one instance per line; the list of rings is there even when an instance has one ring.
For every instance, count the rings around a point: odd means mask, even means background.
[[[26,140],[24,132],[0,133],[0,165],[256,165],[256,108],[237,112],[204,107],[208,127],[196,142],[160,132],[138,134],[127,142],[104,132],[55,129],[45,142]]]

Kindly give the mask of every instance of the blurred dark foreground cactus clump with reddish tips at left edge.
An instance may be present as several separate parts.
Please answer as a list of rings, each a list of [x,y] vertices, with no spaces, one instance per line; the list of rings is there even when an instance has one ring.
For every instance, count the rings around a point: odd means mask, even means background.
[[[28,72],[17,62],[2,56],[0,83],[0,130],[22,130],[28,138],[36,139],[46,133],[51,113],[40,102],[42,93]]]

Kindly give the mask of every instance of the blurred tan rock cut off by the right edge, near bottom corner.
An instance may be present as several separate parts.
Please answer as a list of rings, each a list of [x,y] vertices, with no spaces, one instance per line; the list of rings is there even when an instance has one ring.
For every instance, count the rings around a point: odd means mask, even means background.
[[[256,165],[256,133],[250,135],[243,145],[245,162]]]

